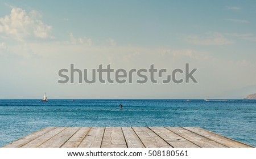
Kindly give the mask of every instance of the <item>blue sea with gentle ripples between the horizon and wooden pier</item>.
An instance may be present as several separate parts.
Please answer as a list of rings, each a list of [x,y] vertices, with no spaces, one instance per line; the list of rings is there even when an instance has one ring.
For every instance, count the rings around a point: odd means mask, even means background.
[[[256,147],[256,100],[0,100],[0,147],[48,126],[197,126]]]

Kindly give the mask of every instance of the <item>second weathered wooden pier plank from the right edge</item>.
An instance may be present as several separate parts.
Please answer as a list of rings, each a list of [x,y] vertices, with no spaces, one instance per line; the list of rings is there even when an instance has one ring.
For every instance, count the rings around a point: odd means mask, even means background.
[[[191,131],[185,130],[182,127],[166,127],[168,130],[171,130],[177,135],[180,135],[181,137],[184,137],[185,139],[191,141],[192,143],[198,145],[199,147],[214,147],[214,148],[222,148],[226,147],[225,145],[222,145],[220,143],[217,143],[216,141],[207,139],[206,137],[203,137],[201,135],[195,134]]]

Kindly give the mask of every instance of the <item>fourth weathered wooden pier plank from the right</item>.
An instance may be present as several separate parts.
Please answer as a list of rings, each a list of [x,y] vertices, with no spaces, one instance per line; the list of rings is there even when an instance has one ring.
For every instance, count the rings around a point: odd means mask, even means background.
[[[135,133],[139,136],[142,143],[147,148],[167,148],[171,147],[166,141],[161,139],[155,132],[147,127],[133,127]]]

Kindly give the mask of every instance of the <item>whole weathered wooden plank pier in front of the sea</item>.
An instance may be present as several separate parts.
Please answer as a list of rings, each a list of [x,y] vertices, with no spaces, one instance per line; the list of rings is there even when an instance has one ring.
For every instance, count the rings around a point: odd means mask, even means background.
[[[200,127],[46,127],[5,148],[252,147]]]

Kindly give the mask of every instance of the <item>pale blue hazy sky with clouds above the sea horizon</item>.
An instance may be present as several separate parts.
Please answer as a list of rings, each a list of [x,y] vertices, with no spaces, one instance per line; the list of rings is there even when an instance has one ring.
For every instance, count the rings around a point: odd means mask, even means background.
[[[255,16],[256,1],[1,0],[0,98],[243,98],[256,93]],[[198,83],[57,82],[71,64],[185,63]]]

